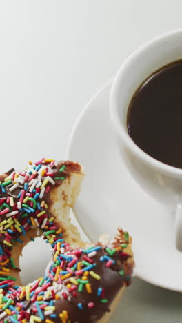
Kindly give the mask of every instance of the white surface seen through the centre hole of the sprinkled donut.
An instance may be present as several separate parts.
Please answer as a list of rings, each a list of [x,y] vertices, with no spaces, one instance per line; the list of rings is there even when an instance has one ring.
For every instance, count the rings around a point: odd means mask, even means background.
[[[36,237],[23,247],[19,258],[21,268],[20,278],[23,285],[43,277],[45,268],[52,260],[51,246],[46,244],[43,237]]]

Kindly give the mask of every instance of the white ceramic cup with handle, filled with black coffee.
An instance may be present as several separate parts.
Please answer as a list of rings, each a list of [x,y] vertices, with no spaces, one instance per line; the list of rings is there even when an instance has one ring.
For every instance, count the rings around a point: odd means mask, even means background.
[[[133,52],[112,84],[110,116],[121,157],[132,177],[154,199],[174,211],[176,248],[182,251],[182,169],[163,164],[144,153],[134,144],[127,128],[128,106],[136,89],[152,72],[178,59],[182,59],[182,30],[156,37]]]

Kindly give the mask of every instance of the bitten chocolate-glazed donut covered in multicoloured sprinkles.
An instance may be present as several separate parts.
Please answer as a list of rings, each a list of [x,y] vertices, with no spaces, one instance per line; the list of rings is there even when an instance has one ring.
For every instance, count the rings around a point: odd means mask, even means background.
[[[132,282],[128,232],[118,228],[111,242],[103,235],[86,244],[70,222],[83,175],[76,162],[43,158],[0,176],[0,323],[108,322]],[[19,256],[39,235],[52,261],[22,286]]]

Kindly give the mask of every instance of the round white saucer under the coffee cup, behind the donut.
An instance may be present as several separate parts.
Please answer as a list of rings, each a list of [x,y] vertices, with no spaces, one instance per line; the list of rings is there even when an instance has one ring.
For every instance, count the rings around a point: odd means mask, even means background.
[[[110,124],[110,85],[89,102],[72,131],[67,158],[80,161],[86,173],[74,213],[93,241],[118,226],[128,230],[137,277],[182,291],[173,215],[137,186],[121,161]]]

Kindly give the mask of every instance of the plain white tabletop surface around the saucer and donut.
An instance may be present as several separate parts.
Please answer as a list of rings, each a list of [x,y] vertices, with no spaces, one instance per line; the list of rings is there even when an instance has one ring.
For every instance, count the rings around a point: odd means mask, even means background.
[[[88,99],[132,50],[182,27],[181,12],[181,0],[1,0],[0,169],[64,158]],[[181,322],[181,304],[135,280],[112,322]]]

